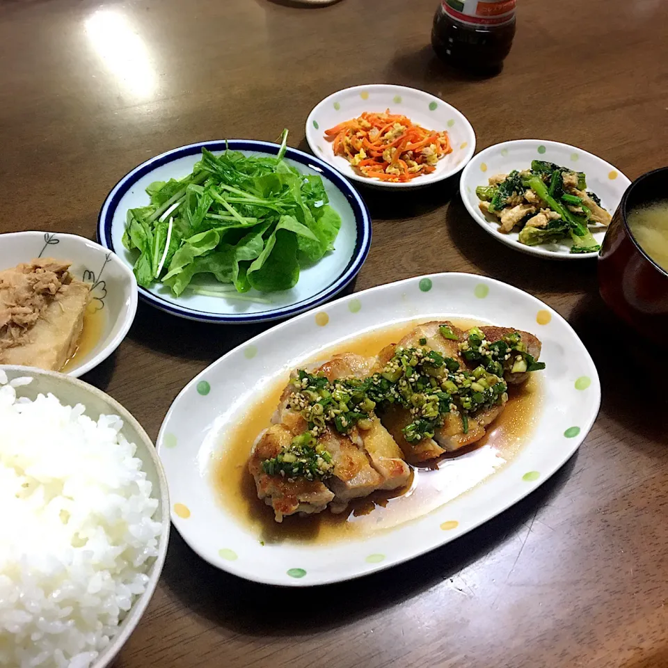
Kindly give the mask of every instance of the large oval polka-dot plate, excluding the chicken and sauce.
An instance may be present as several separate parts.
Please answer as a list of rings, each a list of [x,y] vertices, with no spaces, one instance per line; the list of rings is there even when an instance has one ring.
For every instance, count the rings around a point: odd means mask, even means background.
[[[475,319],[535,333],[543,342],[542,401],[527,442],[488,477],[420,518],[344,543],[264,541],[218,500],[212,467],[248,408],[290,369],[346,340],[415,320]],[[241,578],[304,587],[350,580],[438,548],[498,515],[545,482],[578,449],[596,420],[601,386],[587,349],[557,312],[491,278],[439,273],[337,299],[230,351],[180,392],[157,448],[169,482],[172,521],[214,566]],[[257,424],[259,433],[267,425]],[[488,446],[447,461],[449,479],[487,466]],[[477,459],[478,458],[478,459]],[[498,464],[498,466],[496,466]],[[418,483],[419,484],[419,483]],[[391,508],[391,506],[390,506]],[[328,512],[328,511],[326,511]],[[373,511],[372,511],[373,512]]]

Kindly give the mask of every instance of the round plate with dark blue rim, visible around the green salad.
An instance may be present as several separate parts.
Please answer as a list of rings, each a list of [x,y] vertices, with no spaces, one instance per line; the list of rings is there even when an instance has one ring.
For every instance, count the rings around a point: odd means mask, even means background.
[[[127,264],[134,266],[136,257],[122,244],[128,209],[148,205],[146,186],[154,181],[180,179],[191,173],[200,159],[202,147],[220,154],[226,148],[245,154],[275,156],[280,146],[264,141],[202,141],[160,154],[134,168],[113,187],[102,205],[97,219],[97,238]],[[328,301],[341,292],[362,268],[371,246],[371,217],[363,199],[336,170],[323,161],[294,148],[285,154],[287,162],[303,174],[319,175],[324,182],[330,205],[340,214],[342,223],[335,250],[319,262],[302,269],[299,282],[291,290],[260,294],[251,290],[249,296],[261,297],[268,303],[237,301],[220,296],[182,294],[174,296],[160,283],[150,289],[139,288],[139,297],[173,315],[191,320],[218,324],[264,322],[291,317]],[[218,284],[219,285],[219,284]],[[202,285],[202,287],[206,287]]]

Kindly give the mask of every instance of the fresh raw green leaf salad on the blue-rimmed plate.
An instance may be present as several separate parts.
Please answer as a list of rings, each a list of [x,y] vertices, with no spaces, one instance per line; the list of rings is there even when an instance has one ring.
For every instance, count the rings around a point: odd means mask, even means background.
[[[284,130],[276,157],[202,148],[191,174],[150,184],[150,205],[129,209],[123,234],[138,251],[137,283],[257,301],[244,293],[294,287],[300,269],[333,250],[341,217],[321,177],[283,159],[286,142]],[[191,285],[197,274],[221,285]]]

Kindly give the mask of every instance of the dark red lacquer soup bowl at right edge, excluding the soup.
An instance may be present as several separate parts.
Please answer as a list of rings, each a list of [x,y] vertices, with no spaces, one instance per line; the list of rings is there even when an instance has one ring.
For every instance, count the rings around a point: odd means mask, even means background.
[[[603,301],[639,333],[668,341],[668,271],[651,260],[628,228],[635,207],[668,196],[668,167],[646,173],[628,187],[612,217],[598,258]]]

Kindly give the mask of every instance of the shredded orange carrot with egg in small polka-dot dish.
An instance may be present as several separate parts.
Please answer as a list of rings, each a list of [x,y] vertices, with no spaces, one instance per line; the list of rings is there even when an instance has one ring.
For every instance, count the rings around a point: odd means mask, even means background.
[[[427,130],[401,114],[369,113],[325,130],[340,155],[363,176],[406,182],[430,174],[452,152],[447,132]]]

